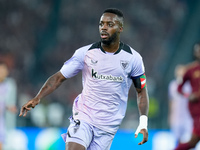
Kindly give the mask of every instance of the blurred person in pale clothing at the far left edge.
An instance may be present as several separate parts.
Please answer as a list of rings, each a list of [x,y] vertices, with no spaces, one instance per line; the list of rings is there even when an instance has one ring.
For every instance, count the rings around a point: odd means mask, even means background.
[[[6,131],[16,124],[16,83],[8,77],[8,67],[0,62],[0,150],[6,138]],[[12,114],[10,114],[12,112]]]

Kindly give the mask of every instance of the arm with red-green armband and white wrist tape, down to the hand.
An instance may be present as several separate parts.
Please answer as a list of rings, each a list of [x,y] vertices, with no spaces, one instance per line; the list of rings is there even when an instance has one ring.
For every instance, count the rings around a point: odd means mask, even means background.
[[[132,80],[137,91],[137,104],[140,114],[140,122],[135,132],[135,137],[138,136],[138,133],[143,134],[143,140],[140,143],[138,143],[139,145],[141,145],[148,141],[147,116],[149,111],[149,96],[147,92],[145,74],[137,78],[132,78]]]

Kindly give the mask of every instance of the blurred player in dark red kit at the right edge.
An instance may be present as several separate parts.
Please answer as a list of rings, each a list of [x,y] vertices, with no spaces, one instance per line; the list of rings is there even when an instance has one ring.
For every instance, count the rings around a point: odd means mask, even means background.
[[[187,143],[180,143],[176,150],[188,150],[194,148],[200,140],[200,43],[194,45],[195,61],[187,66],[187,71],[183,76],[182,83],[178,86],[178,91],[183,93],[183,85],[189,81],[192,92],[189,96],[189,110],[193,119],[192,137]]]

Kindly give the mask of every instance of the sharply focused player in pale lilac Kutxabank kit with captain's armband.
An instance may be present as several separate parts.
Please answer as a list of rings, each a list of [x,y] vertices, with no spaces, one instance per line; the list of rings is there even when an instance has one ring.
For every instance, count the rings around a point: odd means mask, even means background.
[[[109,150],[114,135],[125,116],[132,82],[137,91],[143,134],[139,145],[148,140],[147,115],[149,98],[142,57],[120,41],[123,14],[106,9],[99,22],[101,41],[76,50],[60,71],[52,75],[39,93],[21,108],[20,116],[34,108],[40,99],[53,92],[63,81],[82,71],[83,90],[73,104],[70,126],[62,137],[66,150]]]

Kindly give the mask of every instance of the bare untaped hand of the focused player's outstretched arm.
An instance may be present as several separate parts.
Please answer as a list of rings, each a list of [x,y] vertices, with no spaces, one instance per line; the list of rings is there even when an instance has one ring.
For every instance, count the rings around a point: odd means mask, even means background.
[[[38,98],[33,98],[29,100],[26,104],[24,104],[21,107],[19,116],[23,115],[23,117],[25,117],[27,115],[27,112],[30,111],[31,108],[34,108],[37,104],[39,104],[39,102],[40,102],[40,99]]]

